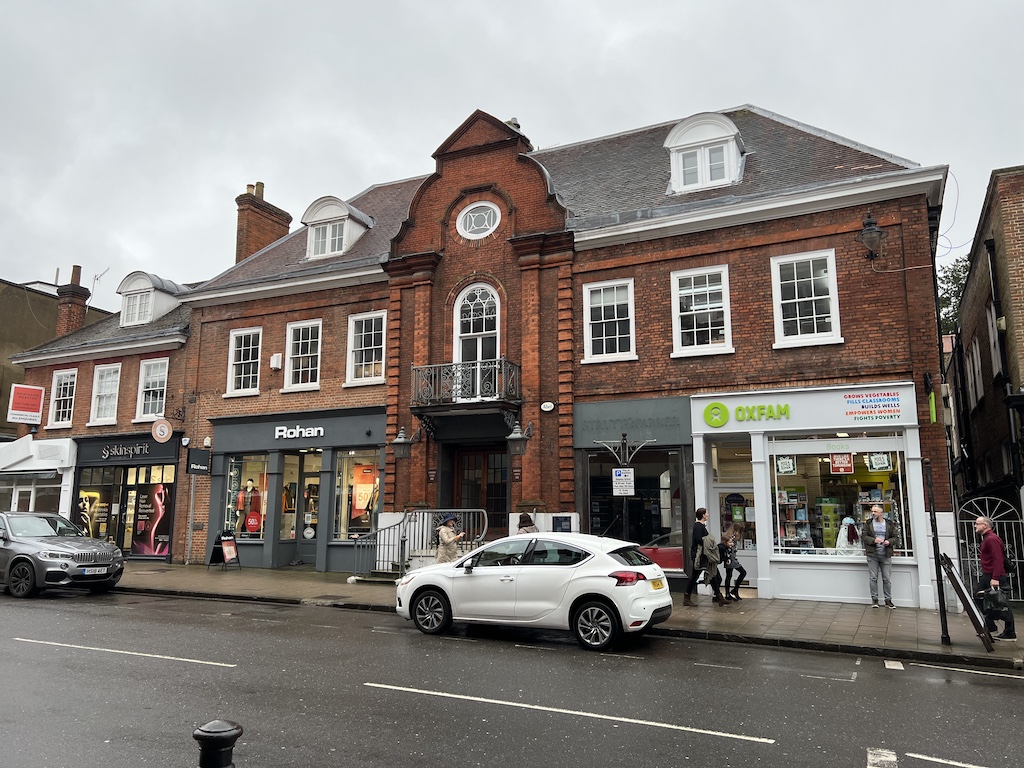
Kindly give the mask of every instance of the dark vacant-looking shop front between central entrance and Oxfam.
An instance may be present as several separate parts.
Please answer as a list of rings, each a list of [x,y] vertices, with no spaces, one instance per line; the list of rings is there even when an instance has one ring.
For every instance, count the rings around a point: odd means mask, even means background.
[[[637,544],[688,530],[690,442],[688,397],[577,403],[581,529]]]

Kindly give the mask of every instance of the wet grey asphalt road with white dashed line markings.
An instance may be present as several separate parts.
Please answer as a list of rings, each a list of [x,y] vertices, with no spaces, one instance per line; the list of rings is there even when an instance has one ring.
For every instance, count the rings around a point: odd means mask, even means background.
[[[0,596],[4,768],[1018,766],[1024,676],[144,595]],[[892,762],[895,760],[896,762]]]

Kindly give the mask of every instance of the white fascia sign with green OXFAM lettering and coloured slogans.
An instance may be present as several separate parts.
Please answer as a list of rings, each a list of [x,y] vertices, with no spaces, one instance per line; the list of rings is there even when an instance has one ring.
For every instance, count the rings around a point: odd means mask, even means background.
[[[910,382],[697,395],[690,399],[690,410],[694,432],[700,426],[709,432],[774,432],[918,423]]]

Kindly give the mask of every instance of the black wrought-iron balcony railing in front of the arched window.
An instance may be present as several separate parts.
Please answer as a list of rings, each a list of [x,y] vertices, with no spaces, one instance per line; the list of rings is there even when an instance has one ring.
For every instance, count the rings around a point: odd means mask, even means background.
[[[443,406],[457,402],[522,401],[522,372],[504,357],[476,362],[447,362],[413,368],[413,402]]]

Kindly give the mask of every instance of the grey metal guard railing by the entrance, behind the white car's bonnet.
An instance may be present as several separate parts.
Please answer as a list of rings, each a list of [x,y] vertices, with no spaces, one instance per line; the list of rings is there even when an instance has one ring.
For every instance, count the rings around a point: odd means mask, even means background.
[[[457,531],[466,537],[460,552],[479,547],[487,534],[487,512],[483,509],[407,509],[382,512],[378,528],[354,540],[352,574],[400,579],[407,571],[434,562],[437,528],[445,515],[454,515]]]

